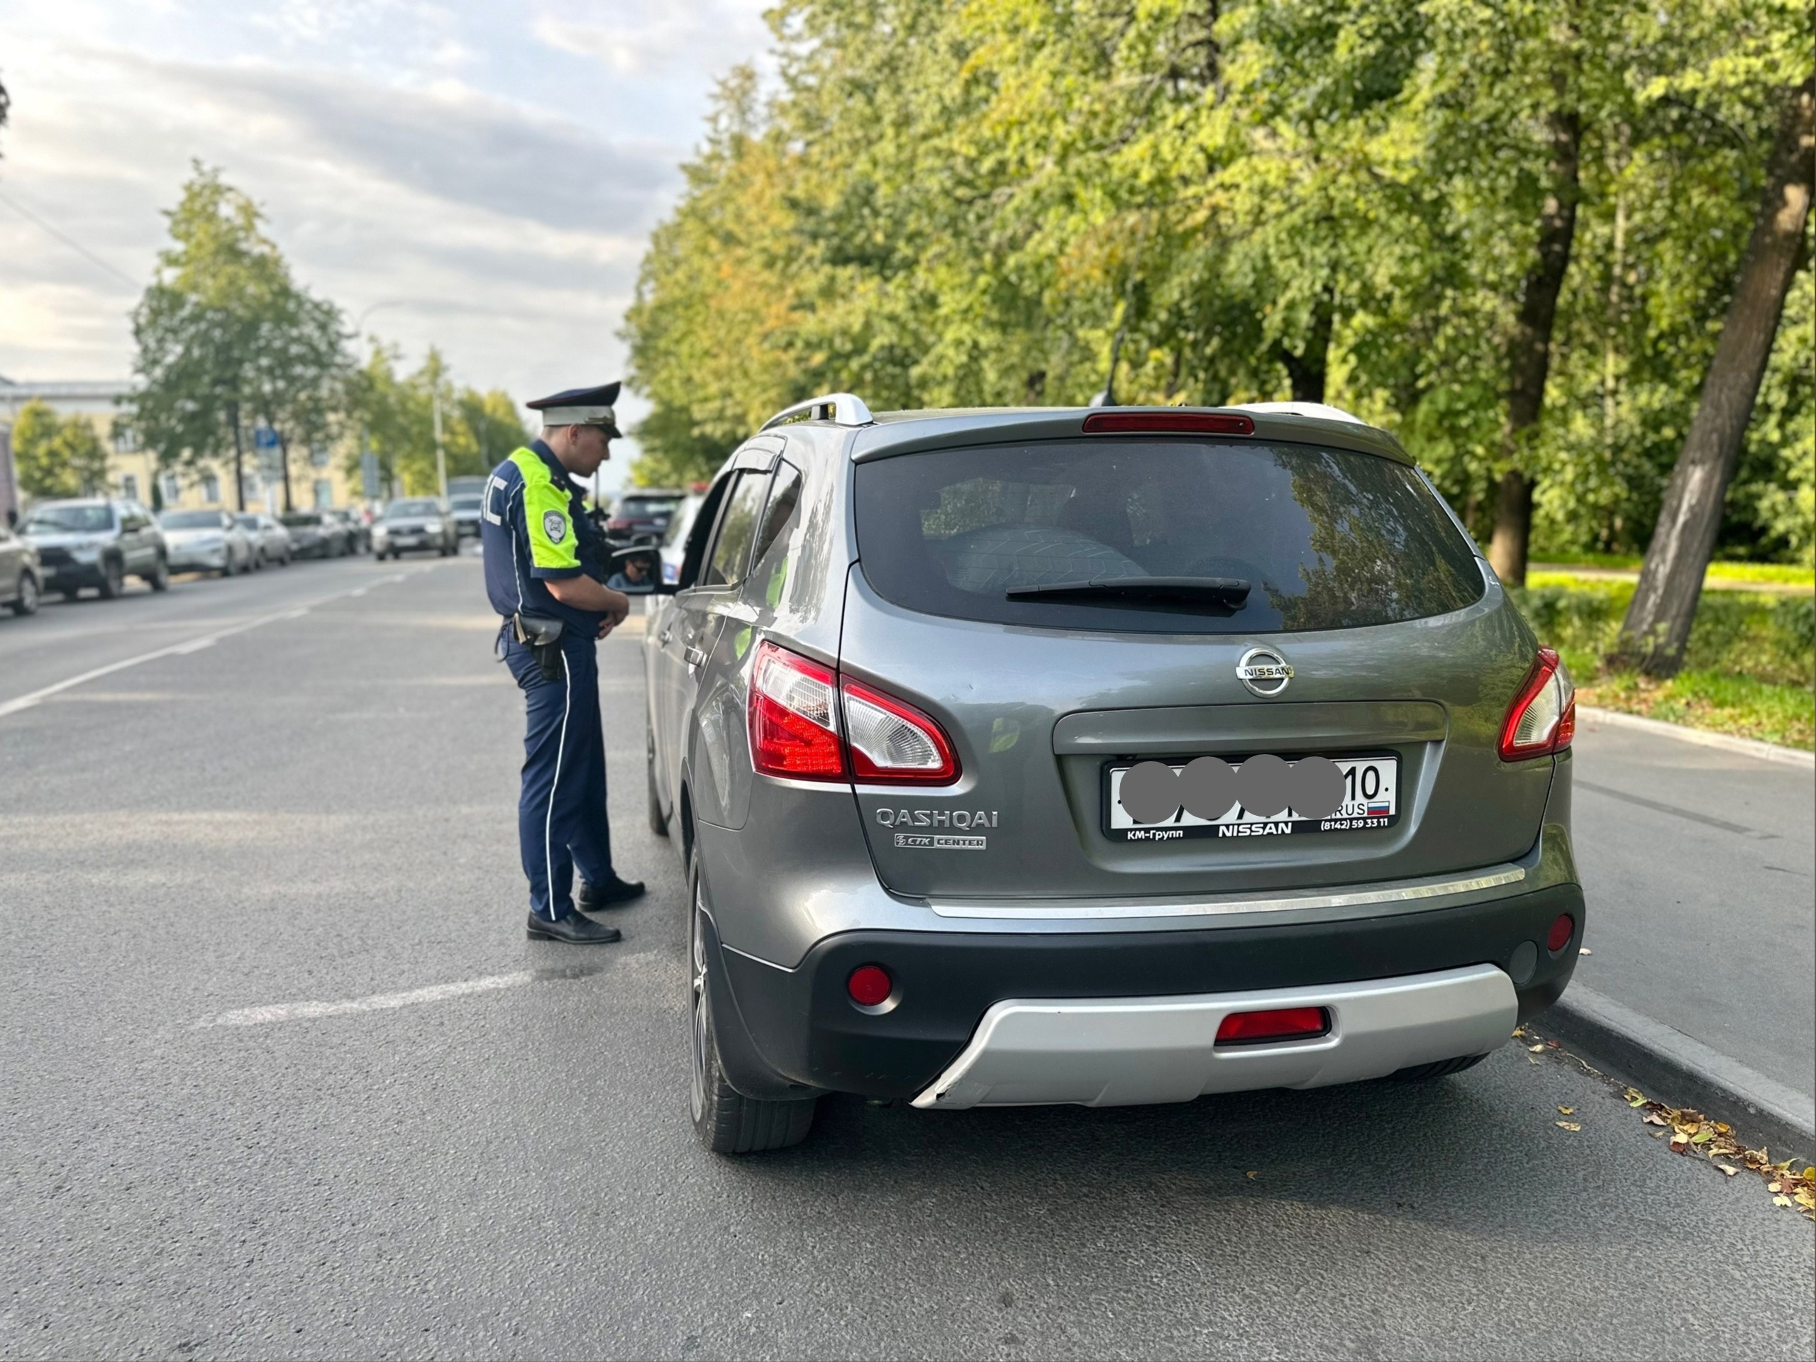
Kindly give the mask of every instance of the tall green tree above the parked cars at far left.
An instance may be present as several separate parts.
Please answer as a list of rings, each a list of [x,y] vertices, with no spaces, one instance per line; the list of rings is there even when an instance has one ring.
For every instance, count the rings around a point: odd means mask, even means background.
[[[289,450],[331,438],[347,407],[340,309],[296,283],[258,205],[218,171],[196,163],[165,216],[171,245],[133,312],[133,425],[176,467],[238,456],[265,423],[289,503]]]

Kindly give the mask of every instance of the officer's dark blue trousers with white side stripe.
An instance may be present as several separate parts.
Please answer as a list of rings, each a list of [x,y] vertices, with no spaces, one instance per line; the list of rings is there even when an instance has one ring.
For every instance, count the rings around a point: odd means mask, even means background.
[[[530,912],[548,921],[574,912],[576,868],[588,884],[612,877],[596,641],[570,632],[561,645],[563,672],[545,681],[536,654],[505,632],[505,665],[528,716],[518,850],[530,881]]]

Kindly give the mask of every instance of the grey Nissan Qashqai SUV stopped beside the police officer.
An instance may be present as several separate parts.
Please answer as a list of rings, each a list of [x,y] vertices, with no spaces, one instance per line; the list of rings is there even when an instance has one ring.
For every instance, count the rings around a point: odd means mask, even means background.
[[[801,403],[648,621],[694,1124],[1455,1073],[1584,930],[1567,672],[1331,407]]]

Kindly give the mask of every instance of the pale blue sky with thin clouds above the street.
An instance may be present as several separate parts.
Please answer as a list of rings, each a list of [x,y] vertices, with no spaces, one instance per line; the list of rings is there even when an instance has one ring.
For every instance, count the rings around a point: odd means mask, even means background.
[[[766,4],[5,0],[0,374],[131,372],[202,160],[407,363],[439,345],[519,401],[616,378],[643,242]]]

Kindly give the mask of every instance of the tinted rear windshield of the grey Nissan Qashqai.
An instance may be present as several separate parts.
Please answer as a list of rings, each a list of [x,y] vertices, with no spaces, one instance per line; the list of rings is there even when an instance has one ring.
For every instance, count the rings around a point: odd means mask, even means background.
[[[1475,550],[1413,469],[1308,445],[1053,441],[875,459],[857,465],[857,548],[870,585],[910,610],[1046,628],[1357,628],[1484,592]],[[1248,596],[1010,596],[1128,577],[1240,581]]]

